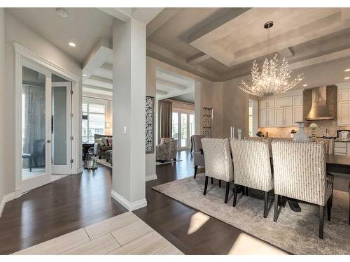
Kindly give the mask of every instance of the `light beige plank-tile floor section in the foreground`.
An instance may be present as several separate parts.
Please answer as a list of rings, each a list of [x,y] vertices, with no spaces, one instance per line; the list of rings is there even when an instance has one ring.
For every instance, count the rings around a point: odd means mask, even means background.
[[[14,253],[35,254],[183,254],[132,212],[120,214]]]

